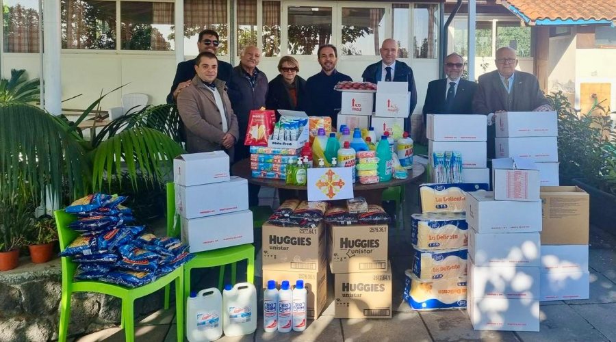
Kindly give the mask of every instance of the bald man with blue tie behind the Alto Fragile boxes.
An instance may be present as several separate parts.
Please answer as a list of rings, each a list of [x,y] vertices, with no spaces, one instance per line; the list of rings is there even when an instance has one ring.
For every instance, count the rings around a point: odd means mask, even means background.
[[[411,132],[411,114],[417,105],[417,88],[413,70],[405,62],[396,61],[398,57],[398,42],[392,38],[385,39],[381,45],[381,61],[370,64],[361,77],[364,82],[377,83],[378,81],[407,82],[411,92],[409,117],[405,118],[405,131]]]

